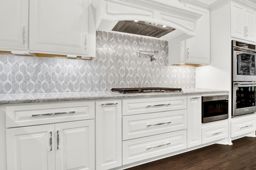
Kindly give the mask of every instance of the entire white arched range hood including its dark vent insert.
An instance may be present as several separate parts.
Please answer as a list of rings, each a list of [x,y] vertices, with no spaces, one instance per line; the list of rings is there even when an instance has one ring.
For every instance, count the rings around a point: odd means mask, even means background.
[[[196,21],[202,16],[178,0],[98,0],[96,29],[149,36],[180,42],[196,36]]]

